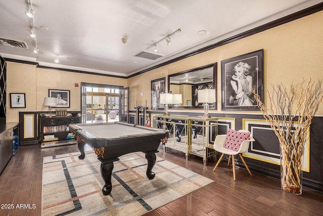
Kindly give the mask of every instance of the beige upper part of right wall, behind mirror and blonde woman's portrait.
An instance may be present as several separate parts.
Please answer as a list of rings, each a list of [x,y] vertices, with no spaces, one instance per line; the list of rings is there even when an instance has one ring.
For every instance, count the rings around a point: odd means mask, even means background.
[[[144,99],[147,99],[150,107],[149,80],[218,62],[218,110],[210,112],[224,112],[221,111],[221,61],[260,49],[264,50],[263,80],[266,104],[268,102],[266,90],[267,88],[272,90],[272,84],[283,82],[289,86],[291,82],[299,82],[303,77],[305,80],[309,77],[312,80],[323,77],[322,20],[323,11],[129,78],[130,107],[134,107],[133,101],[141,102]],[[142,80],[147,82],[143,84]],[[144,93],[144,97],[140,97],[140,93]],[[260,111],[254,112],[260,113]],[[323,104],[316,114],[323,114]]]

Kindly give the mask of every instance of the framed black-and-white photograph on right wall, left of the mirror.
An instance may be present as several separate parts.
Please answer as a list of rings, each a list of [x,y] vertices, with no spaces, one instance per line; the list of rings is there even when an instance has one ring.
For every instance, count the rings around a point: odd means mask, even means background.
[[[151,109],[152,110],[164,109],[164,104],[160,104],[160,94],[166,93],[165,81],[166,81],[165,77],[151,80]]]

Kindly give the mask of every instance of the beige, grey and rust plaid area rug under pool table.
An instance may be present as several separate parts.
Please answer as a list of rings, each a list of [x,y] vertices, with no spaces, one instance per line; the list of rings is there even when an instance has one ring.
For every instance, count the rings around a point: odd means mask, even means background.
[[[112,192],[104,196],[100,161],[93,151],[44,157],[42,215],[142,215],[178,199],[212,180],[157,157],[146,176],[147,160],[141,152],[114,162]]]

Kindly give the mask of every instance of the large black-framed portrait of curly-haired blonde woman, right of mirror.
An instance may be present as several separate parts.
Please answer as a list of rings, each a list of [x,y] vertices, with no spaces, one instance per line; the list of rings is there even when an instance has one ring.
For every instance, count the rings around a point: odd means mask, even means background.
[[[263,101],[263,50],[221,61],[222,110],[256,110]]]

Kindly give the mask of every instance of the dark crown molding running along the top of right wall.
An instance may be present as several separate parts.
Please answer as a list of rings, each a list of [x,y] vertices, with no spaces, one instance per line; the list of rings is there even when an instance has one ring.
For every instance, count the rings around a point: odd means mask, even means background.
[[[274,27],[277,27],[279,25],[283,25],[285,23],[288,23],[288,22],[291,22],[291,21],[300,19],[302,17],[305,17],[305,16],[308,16],[308,15],[314,14],[314,13],[319,12],[319,11],[322,11],[322,10],[323,10],[323,3],[319,3],[319,4],[314,5],[312,7],[309,7],[309,8],[306,8],[304,10],[298,11],[298,12],[296,12],[294,14],[291,14],[291,15],[288,15],[288,16],[285,16],[285,17],[282,17],[282,18],[280,18],[278,20],[275,20],[275,21],[266,23],[264,25],[261,25],[261,26],[258,26],[256,28],[253,28],[253,29],[250,29],[248,31],[245,31],[243,33],[240,33],[240,34],[237,34],[235,36],[229,37],[227,39],[221,40],[221,41],[217,42],[216,44],[209,45],[209,46],[204,47],[204,48],[201,48],[199,50],[196,50],[196,51],[187,53],[187,54],[185,54],[183,56],[179,56],[177,58],[174,58],[172,60],[166,61],[164,63],[155,65],[155,66],[153,66],[151,68],[147,68],[145,70],[139,71],[137,73],[134,73],[134,74],[128,76],[127,78],[130,78],[130,77],[133,77],[133,76],[137,76],[139,74],[148,72],[150,70],[154,70],[154,69],[157,69],[159,67],[163,67],[165,65],[168,65],[168,64],[171,64],[171,63],[174,63],[174,62],[177,62],[177,61],[186,59],[188,57],[195,56],[197,54],[200,54],[200,53],[203,53],[203,52],[212,50],[214,48],[224,46],[226,44],[230,44],[231,42],[234,42],[236,40],[242,39],[244,37],[248,37],[248,36],[251,36],[253,34],[259,33],[261,31],[265,31],[265,30],[268,30],[270,28],[274,28]]]

